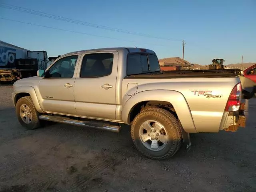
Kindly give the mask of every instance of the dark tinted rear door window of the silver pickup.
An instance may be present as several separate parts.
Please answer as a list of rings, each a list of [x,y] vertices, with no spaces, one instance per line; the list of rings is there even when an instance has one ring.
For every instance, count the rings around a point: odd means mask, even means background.
[[[86,54],[82,61],[80,77],[103,77],[112,73],[112,53]]]

